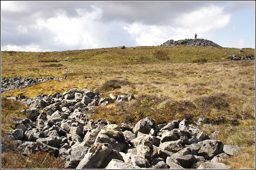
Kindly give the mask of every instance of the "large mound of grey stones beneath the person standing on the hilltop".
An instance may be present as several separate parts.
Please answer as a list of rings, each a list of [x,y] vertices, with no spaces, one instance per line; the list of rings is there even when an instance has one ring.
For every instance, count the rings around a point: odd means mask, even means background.
[[[195,47],[195,46],[202,46],[202,47],[221,47],[220,45],[207,40],[207,39],[181,39],[178,41],[174,40],[168,40],[165,43],[163,43],[160,46],[179,46],[179,45],[184,45],[184,46],[189,46],[189,47]]]

